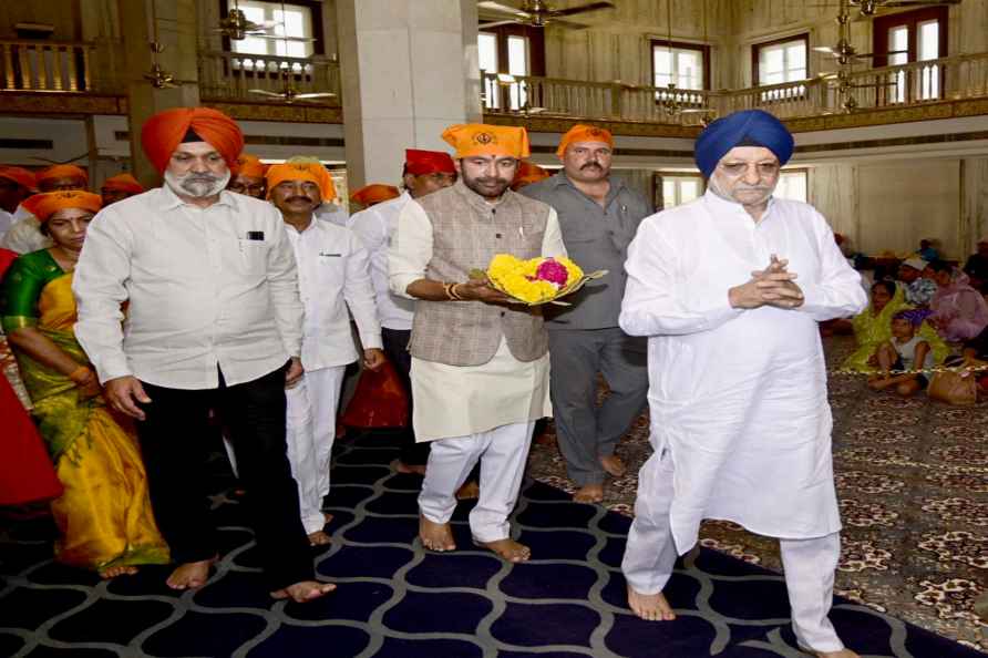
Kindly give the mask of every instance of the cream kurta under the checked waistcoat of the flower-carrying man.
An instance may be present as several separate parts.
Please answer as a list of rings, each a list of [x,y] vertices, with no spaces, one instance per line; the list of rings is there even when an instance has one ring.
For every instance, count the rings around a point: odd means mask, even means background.
[[[566,256],[555,210],[549,210],[546,219],[542,255]],[[422,206],[406,203],[389,250],[391,291],[411,299],[405,289],[425,277],[430,260],[432,222]],[[550,417],[548,377],[548,352],[534,361],[518,361],[503,338],[494,357],[482,366],[412,358],[415,440],[469,436]]]

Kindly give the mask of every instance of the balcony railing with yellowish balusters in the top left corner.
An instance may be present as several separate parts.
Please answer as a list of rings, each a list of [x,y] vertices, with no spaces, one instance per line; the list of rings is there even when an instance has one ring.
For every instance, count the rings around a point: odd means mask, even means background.
[[[93,91],[85,41],[0,40],[0,90]]]

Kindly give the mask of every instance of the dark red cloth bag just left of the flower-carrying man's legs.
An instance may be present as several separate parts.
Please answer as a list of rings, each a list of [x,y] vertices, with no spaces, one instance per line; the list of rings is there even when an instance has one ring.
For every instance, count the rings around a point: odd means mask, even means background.
[[[409,397],[391,361],[378,370],[363,369],[340,419],[348,428],[373,430],[409,424]]]

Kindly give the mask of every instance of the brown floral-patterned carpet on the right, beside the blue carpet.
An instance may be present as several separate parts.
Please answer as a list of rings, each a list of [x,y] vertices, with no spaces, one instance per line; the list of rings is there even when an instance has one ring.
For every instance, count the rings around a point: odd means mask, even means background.
[[[853,347],[825,340],[836,367]],[[844,522],[837,589],[971,647],[988,650],[974,614],[988,590],[988,403],[951,408],[925,395],[874,393],[861,377],[830,382],[834,471]],[[649,456],[642,414],[618,448],[628,474],[608,483],[607,508],[631,514],[638,469]],[[532,451],[529,474],[573,491],[549,426]],[[727,522],[708,522],[702,545],[781,570],[778,545]]]

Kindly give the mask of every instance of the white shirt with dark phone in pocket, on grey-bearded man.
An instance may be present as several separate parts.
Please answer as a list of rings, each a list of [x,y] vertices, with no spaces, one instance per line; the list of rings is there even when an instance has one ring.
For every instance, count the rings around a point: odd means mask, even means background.
[[[133,374],[210,389],[217,366],[233,385],[301,354],[302,305],[281,215],[241,194],[224,191],[198,208],[159,187],[103,208],[72,290],[75,336],[102,382]]]

